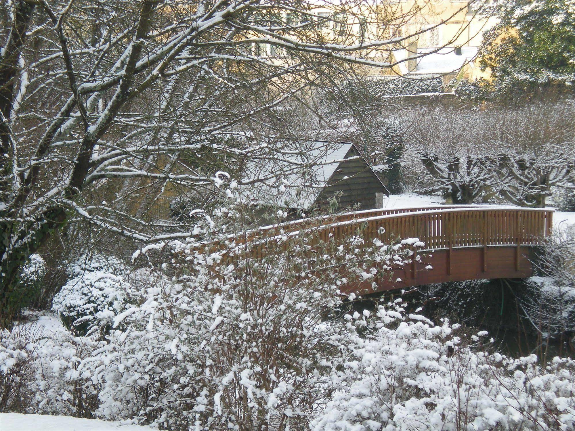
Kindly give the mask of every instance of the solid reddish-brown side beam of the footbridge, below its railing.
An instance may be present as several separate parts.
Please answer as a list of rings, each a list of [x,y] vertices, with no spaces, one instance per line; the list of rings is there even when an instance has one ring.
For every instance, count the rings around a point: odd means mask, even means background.
[[[425,284],[497,278],[527,278],[532,275],[534,247],[500,245],[420,251],[421,261],[342,288],[343,293],[367,295]],[[426,269],[431,265],[432,269]],[[375,283],[375,286],[374,284]]]

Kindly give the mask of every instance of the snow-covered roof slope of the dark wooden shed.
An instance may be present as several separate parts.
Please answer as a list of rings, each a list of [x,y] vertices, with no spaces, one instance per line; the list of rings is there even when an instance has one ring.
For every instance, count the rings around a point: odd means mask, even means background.
[[[252,203],[305,209],[316,201],[352,146],[329,141],[287,145],[273,159],[251,162],[239,193]]]

